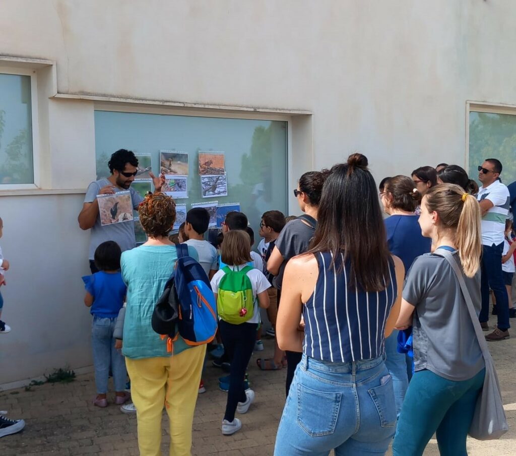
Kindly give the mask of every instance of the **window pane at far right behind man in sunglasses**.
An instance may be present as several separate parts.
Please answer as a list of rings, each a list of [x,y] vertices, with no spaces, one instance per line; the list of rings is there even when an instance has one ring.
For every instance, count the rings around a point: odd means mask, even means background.
[[[470,112],[470,177],[478,182],[478,165],[497,158],[505,185],[516,181],[516,116]]]

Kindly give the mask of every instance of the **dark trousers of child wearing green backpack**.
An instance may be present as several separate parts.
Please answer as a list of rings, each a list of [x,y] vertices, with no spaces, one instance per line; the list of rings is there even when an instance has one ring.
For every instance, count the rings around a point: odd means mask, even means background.
[[[247,400],[244,389],[244,377],[247,365],[251,359],[256,341],[256,330],[258,323],[231,324],[223,320],[219,321],[220,337],[224,344],[224,352],[231,360],[228,401],[224,419],[233,421],[235,419],[236,406],[238,402]]]

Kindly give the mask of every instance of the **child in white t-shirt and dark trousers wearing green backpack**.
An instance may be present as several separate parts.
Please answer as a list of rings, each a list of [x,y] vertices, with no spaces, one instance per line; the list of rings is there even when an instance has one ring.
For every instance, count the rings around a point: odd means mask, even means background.
[[[249,235],[244,231],[233,230],[225,233],[221,248],[221,259],[227,266],[217,271],[211,282],[215,299],[217,300],[219,317],[222,315],[219,321],[220,335],[222,336],[224,350],[231,360],[228,400],[222,420],[222,434],[224,435],[234,434],[242,427],[241,421],[235,418],[235,412],[238,411],[240,414],[246,413],[254,400],[254,391],[252,389],[244,389],[244,377],[247,365],[251,359],[256,329],[260,321],[259,307],[267,308],[269,306],[269,295],[267,292],[267,289],[270,287],[269,281],[261,270],[247,265],[251,260],[249,245]],[[226,308],[224,307],[224,302],[227,302],[224,301],[223,296],[225,294],[223,295],[221,290],[225,289],[225,285],[222,283],[225,274],[231,272],[228,268],[232,271],[248,269],[245,275],[249,278],[252,287],[252,317],[249,318],[247,309],[242,308],[239,316],[244,321],[241,323],[226,321],[225,319],[229,320],[230,318],[225,316],[224,312],[221,312]],[[221,295],[220,299],[219,294]],[[234,317],[236,318],[238,315]]]

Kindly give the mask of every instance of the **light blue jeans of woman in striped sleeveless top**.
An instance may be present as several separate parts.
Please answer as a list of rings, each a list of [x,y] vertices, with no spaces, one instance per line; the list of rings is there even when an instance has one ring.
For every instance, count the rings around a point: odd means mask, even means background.
[[[303,354],[283,409],[275,456],[384,454],[396,426],[394,389],[382,357],[355,363]]]

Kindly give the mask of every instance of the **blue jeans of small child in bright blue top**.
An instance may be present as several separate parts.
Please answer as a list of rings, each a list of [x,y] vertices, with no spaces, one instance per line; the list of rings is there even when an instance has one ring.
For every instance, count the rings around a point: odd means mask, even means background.
[[[93,316],[91,324],[91,347],[93,349],[93,365],[95,367],[95,386],[97,394],[107,393],[109,366],[113,373],[115,391],[123,391],[127,381],[125,360],[119,350],[115,348],[113,331],[116,318],[102,318]]]

